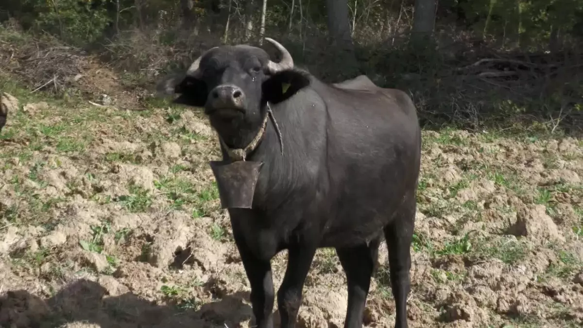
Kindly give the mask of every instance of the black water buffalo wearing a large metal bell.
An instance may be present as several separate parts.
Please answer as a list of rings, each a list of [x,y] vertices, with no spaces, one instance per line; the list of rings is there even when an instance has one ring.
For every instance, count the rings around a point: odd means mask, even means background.
[[[415,105],[366,76],[319,81],[265,40],[279,62],[261,48],[220,46],[158,85],[180,94],[175,103],[202,107],[217,132],[223,160],[210,165],[251,284],[255,324],[273,327],[275,254],[288,250],[277,296],[281,327],[291,328],[316,249],[335,247],[348,284],[345,327],[361,327],[386,239],[395,327],[408,327],[421,152]]]

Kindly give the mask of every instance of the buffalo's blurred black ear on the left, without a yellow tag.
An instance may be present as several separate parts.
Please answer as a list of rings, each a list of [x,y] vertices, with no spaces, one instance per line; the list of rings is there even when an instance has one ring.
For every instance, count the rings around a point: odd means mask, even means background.
[[[203,107],[208,95],[206,83],[184,74],[168,76],[158,83],[156,91],[160,95],[179,94],[173,103],[192,107]]]

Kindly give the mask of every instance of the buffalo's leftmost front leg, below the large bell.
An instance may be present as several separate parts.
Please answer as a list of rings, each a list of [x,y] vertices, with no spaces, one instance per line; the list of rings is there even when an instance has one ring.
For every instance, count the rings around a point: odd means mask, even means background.
[[[273,278],[269,260],[259,259],[248,248],[245,241],[234,233],[237,249],[251,285],[251,306],[255,316],[255,327],[273,328]]]

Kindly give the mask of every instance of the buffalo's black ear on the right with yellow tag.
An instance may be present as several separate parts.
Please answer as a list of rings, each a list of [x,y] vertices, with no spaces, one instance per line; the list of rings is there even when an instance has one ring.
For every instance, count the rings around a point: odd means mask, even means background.
[[[310,85],[308,75],[294,70],[278,72],[263,82],[263,97],[266,101],[276,104],[293,96]]]

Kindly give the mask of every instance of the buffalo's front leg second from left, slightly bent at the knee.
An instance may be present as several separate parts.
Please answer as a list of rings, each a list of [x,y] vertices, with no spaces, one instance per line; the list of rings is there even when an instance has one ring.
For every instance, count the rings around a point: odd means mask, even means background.
[[[290,246],[287,250],[286,274],[278,291],[281,328],[294,328],[296,324],[305,277],[315,253],[315,246]]]

